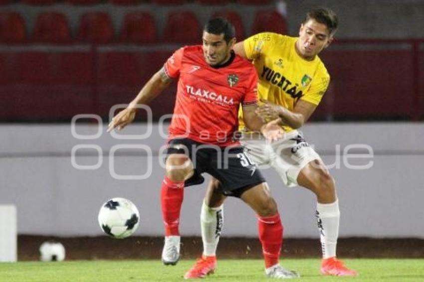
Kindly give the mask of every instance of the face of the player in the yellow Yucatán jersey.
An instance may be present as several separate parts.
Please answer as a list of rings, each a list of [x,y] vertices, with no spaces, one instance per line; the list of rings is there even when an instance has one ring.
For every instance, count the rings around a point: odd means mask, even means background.
[[[333,37],[325,24],[310,19],[300,26],[296,51],[302,58],[313,60],[332,40]]]

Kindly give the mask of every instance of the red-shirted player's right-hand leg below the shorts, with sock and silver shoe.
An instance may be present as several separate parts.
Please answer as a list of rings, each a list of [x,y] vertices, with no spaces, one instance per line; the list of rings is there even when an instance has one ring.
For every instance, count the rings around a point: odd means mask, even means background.
[[[279,256],[283,240],[283,226],[275,200],[266,182],[244,191],[240,198],[257,214],[258,235],[265,260],[265,274],[270,278],[295,278],[299,275],[280,266]]]

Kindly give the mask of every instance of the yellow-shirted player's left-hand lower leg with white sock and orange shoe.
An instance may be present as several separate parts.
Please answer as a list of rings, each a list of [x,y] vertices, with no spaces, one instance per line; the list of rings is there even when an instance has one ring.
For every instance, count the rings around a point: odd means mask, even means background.
[[[196,264],[184,275],[185,279],[203,278],[216,269],[216,247],[223,225],[223,202],[226,196],[220,190],[220,183],[212,178],[202,204],[200,215],[203,254]]]

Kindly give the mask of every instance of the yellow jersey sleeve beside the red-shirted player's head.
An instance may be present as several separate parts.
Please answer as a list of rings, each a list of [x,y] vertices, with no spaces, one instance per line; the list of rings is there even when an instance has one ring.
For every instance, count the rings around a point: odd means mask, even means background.
[[[244,52],[248,60],[257,58],[266,53],[275,44],[277,34],[272,32],[261,32],[246,38],[243,41]]]

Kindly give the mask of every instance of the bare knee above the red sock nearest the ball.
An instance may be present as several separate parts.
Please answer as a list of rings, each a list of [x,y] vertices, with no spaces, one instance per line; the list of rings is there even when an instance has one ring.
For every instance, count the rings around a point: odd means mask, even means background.
[[[174,181],[184,181],[193,171],[193,164],[184,154],[171,154],[166,161],[167,176]]]

